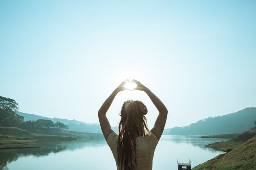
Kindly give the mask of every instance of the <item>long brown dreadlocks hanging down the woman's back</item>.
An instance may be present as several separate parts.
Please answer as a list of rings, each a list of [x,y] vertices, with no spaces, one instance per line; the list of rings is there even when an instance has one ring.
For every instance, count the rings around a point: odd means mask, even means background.
[[[117,163],[120,170],[123,167],[124,170],[135,170],[137,164],[135,135],[144,136],[146,135],[145,130],[151,135],[145,117],[147,113],[146,106],[137,100],[128,100],[122,106],[117,145]]]

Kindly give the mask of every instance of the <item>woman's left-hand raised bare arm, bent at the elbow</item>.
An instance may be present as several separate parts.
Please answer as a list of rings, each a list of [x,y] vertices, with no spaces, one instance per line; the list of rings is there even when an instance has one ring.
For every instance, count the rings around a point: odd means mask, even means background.
[[[127,81],[127,80],[126,80]],[[110,135],[110,133],[114,132],[111,129],[110,123],[108,121],[108,118],[106,116],[106,113],[109,109],[109,107],[111,106],[115,96],[117,95],[117,93],[119,93],[120,91],[124,91],[126,90],[125,88],[125,83],[126,81],[122,82],[112,93],[111,95],[108,97],[108,99],[106,99],[106,101],[102,104],[101,108],[98,111],[98,117],[99,117],[99,124],[101,125],[101,130],[102,133],[105,137],[105,139],[108,139],[108,136]]]

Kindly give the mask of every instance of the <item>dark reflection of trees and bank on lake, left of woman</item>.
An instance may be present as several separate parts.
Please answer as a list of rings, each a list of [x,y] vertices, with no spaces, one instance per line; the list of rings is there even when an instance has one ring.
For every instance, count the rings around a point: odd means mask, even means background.
[[[64,150],[76,150],[85,147],[98,147],[106,145],[105,140],[76,140],[69,142],[51,142],[38,143],[37,145],[44,146],[41,148],[22,148],[22,149],[0,149],[0,170],[8,170],[8,163],[17,161],[19,157],[30,156],[45,157],[50,153],[58,153]]]

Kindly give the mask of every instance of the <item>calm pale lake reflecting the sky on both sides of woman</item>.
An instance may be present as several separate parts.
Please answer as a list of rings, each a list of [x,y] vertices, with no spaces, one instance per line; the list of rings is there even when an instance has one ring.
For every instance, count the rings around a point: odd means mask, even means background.
[[[192,167],[223,153],[204,145],[227,139],[190,135],[163,135],[155,150],[153,170],[177,170],[191,159]],[[1,170],[116,170],[105,140],[45,143],[43,148],[0,150]]]

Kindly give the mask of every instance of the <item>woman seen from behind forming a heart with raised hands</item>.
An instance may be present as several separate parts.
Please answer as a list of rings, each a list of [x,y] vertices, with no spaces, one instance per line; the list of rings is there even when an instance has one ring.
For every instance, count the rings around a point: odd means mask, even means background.
[[[134,90],[144,91],[159,111],[159,115],[154,127],[148,130],[145,117],[148,112],[146,106],[140,101],[128,100],[124,102],[121,109],[119,135],[117,135],[111,129],[106,113],[117,93],[128,90],[125,87],[127,81],[129,80],[122,82],[99,109],[101,130],[113,153],[117,170],[152,170],[155,147],[164,130],[168,111],[161,100],[148,88],[137,80],[132,80],[132,83],[137,84]]]

